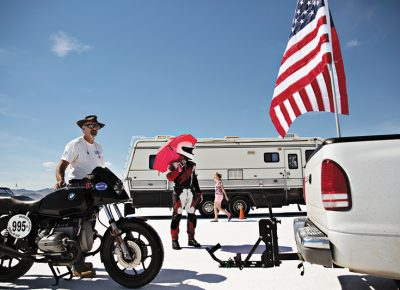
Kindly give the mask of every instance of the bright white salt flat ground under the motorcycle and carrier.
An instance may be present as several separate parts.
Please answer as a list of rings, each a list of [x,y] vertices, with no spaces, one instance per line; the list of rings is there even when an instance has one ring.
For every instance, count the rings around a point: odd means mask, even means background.
[[[250,251],[258,239],[258,221],[265,218],[266,209],[255,211],[244,220],[220,216],[218,223],[211,223],[210,219],[198,219],[196,239],[203,248],[187,247],[186,220],[181,222],[180,243],[183,249],[171,249],[169,224],[171,211],[168,209],[140,209],[136,216],[146,216],[148,223],[160,235],[165,250],[164,264],[156,279],[143,289],[229,289],[229,290],[257,290],[257,289],[345,289],[345,290],[391,290],[397,289],[392,280],[357,274],[346,269],[325,269],[321,266],[305,263],[305,274],[300,276],[297,268],[298,261],[283,261],[280,267],[275,268],[219,268],[217,262],[205,250],[205,247],[217,243],[222,248],[216,252],[221,259],[233,258],[236,253],[242,253],[242,259]],[[296,206],[274,209],[281,224],[278,224],[279,248],[281,252],[296,250],[292,223],[298,214]],[[304,213],[303,213],[304,214]],[[104,215],[100,216],[106,221]],[[104,229],[97,223],[99,232]],[[252,260],[260,259],[263,249],[258,248]],[[122,289],[123,287],[109,278],[99,256],[89,257],[94,263],[97,277],[93,279],[77,278],[71,281],[61,280],[57,287],[51,286],[54,279],[46,264],[35,264],[31,270],[16,283],[0,283],[0,289]],[[62,269],[61,269],[62,270]]]

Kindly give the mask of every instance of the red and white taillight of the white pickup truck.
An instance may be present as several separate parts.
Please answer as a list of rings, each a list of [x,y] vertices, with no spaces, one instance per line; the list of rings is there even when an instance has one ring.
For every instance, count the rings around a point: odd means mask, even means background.
[[[350,210],[351,195],[347,175],[339,164],[329,159],[322,162],[321,193],[326,210]]]

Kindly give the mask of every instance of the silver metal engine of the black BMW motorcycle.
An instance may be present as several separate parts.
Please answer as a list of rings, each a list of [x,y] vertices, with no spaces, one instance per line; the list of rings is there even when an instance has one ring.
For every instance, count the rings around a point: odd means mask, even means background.
[[[43,230],[39,234],[37,245],[43,252],[61,253],[67,251],[65,241],[77,241],[82,252],[88,252],[93,247],[93,226],[90,221],[74,219],[72,222],[59,224],[53,233]]]

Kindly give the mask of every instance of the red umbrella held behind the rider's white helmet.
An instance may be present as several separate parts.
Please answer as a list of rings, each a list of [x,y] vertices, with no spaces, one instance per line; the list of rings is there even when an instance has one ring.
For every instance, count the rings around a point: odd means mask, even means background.
[[[168,169],[168,165],[179,158],[179,154],[176,153],[176,148],[182,142],[189,142],[193,146],[197,143],[197,139],[191,134],[183,134],[174,138],[171,138],[158,149],[156,159],[154,160],[153,168],[160,172],[165,172]]]

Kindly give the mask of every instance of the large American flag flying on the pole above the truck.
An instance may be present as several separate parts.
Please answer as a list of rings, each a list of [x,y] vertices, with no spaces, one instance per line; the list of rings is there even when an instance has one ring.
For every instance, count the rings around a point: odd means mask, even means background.
[[[301,114],[335,112],[329,64],[337,112],[349,114],[342,54],[327,4],[326,0],[297,1],[269,109],[272,123],[282,137]]]

